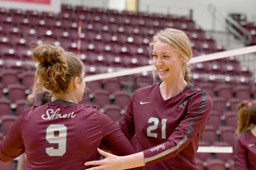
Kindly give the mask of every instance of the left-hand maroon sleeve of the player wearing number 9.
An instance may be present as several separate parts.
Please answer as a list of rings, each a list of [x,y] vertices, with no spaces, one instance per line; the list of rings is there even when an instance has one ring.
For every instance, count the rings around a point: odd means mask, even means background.
[[[22,116],[15,120],[4,140],[0,143],[0,159],[9,162],[25,152],[21,136]]]

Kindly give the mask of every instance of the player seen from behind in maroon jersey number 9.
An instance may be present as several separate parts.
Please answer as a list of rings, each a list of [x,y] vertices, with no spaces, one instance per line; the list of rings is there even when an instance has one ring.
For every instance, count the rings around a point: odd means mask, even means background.
[[[85,68],[74,53],[41,44],[32,57],[39,62],[36,87],[50,91],[52,102],[29,107],[14,121],[0,143],[0,160],[8,162],[25,152],[28,170],[85,169],[84,162],[100,160],[101,143],[119,156],[135,153],[115,122],[97,108],[78,104]]]

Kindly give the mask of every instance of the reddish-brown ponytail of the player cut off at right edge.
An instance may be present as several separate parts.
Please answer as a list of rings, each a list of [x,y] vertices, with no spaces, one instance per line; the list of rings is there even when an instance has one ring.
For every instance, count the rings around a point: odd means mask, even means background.
[[[251,124],[256,124],[256,102],[251,103],[243,100],[237,105],[237,127],[236,133],[247,131],[251,128]]]

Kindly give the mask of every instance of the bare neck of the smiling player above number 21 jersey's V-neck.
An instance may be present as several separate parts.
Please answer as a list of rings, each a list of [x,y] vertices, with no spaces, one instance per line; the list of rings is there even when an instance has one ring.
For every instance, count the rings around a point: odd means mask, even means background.
[[[185,89],[187,82],[182,78],[179,81],[163,81],[160,85],[160,92],[164,100],[167,100]]]

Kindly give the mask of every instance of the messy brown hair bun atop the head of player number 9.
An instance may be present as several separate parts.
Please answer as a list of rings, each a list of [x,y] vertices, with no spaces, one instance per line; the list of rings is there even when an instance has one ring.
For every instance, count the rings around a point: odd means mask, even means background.
[[[33,58],[43,65],[54,64],[58,57],[62,55],[64,49],[60,46],[49,44],[38,45],[32,54]]]

